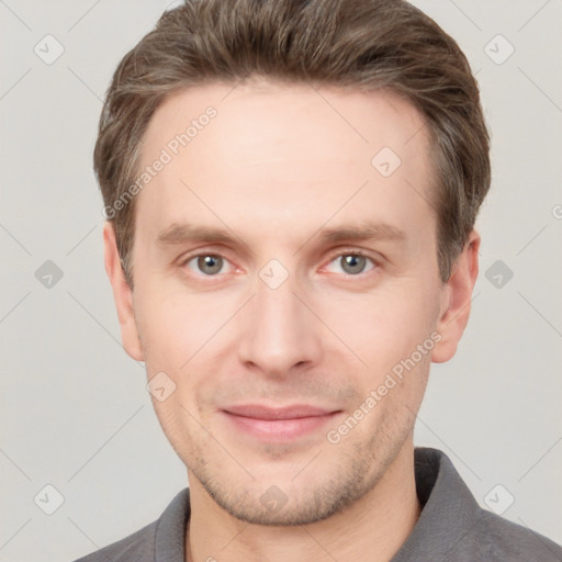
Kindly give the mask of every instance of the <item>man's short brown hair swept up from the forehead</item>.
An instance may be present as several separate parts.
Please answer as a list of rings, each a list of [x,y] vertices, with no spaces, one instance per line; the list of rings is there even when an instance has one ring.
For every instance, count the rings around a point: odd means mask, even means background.
[[[447,281],[490,188],[490,139],[464,54],[404,0],[186,0],[165,12],[106,92],[94,150],[105,209],[134,181],[143,135],[168,94],[251,76],[385,89],[420,111],[434,144],[438,262]],[[120,207],[110,220],[132,286],[135,199]]]

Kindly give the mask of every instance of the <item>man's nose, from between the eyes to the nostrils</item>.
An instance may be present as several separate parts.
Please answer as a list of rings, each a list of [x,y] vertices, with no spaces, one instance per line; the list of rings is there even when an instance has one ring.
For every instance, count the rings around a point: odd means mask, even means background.
[[[276,289],[258,278],[239,317],[238,358],[268,376],[305,370],[321,358],[321,324],[295,285],[291,276]]]

